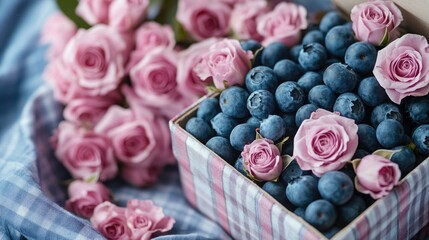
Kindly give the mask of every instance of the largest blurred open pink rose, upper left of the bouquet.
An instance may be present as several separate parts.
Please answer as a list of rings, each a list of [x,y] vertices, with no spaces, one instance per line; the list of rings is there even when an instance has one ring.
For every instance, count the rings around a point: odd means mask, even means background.
[[[65,64],[91,96],[115,90],[125,75],[126,43],[114,29],[97,25],[79,30],[63,53]]]

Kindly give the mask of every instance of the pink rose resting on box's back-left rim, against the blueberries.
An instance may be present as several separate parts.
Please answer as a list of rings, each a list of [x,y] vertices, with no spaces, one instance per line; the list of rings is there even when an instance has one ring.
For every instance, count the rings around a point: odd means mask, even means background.
[[[216,88],[225,89],[225,83],[243,85],[252,58],[252,52],[244,51],[237,40],[224,39],[210,47],[194,70],[201,79],[212,79]]]

